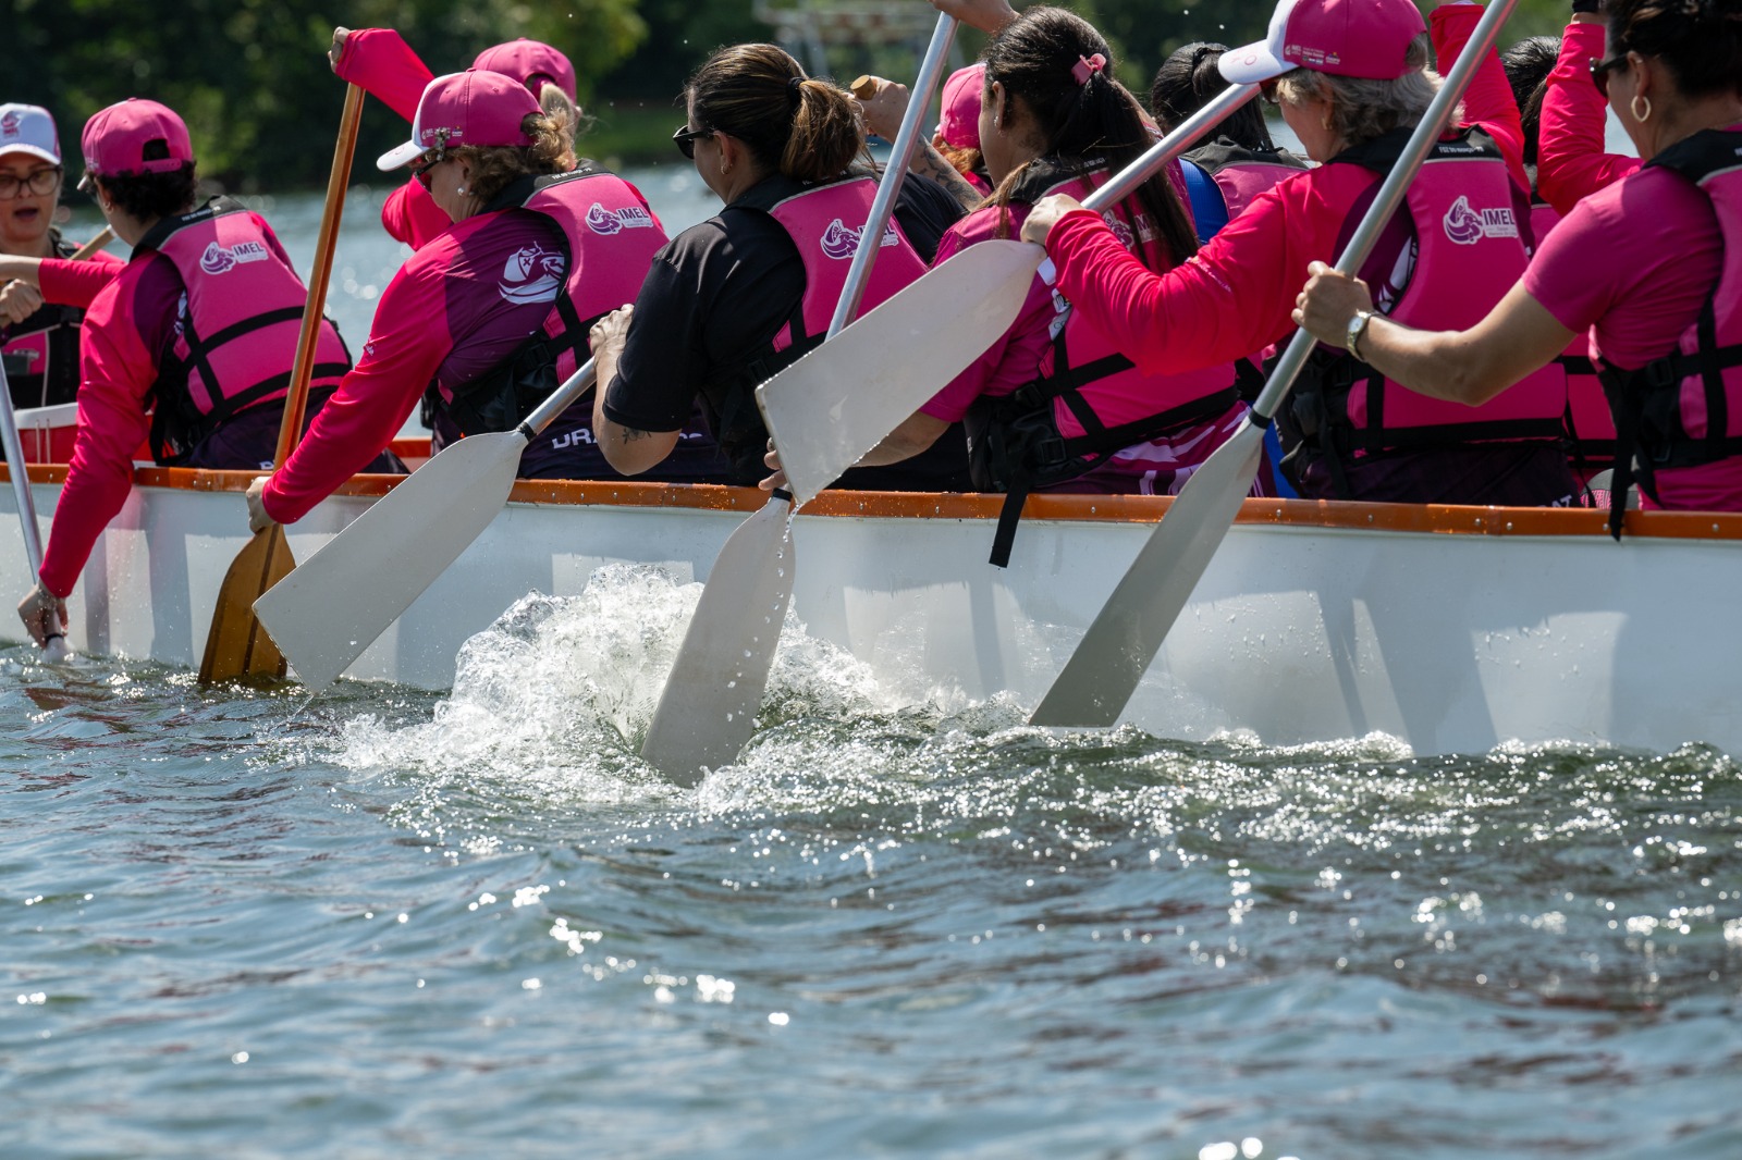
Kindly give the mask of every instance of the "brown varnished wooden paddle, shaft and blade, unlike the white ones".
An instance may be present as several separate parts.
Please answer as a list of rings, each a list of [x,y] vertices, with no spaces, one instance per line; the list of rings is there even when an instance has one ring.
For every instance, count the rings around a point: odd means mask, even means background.
[[[282,467],[291,458],[291,451],[296,449],[296,441],[303,434],[308,380],[314,376],[327,279],[333,273],[333,247],[338,244],[338,223],[345,212],[345,186],[350,181],[350,157],[357,148],[361,118],[362,89],[347,85],[338,145],[333,148],[333,172],[327,178],[326,207],[321,214],[321,233],[315,239],[315,265],[308,273],[308,305],[303,307],[303,327],[296,336],[296,361],[291,364],[284,418],[279,422],[279,446],[272,456],[275,467]],[[218,606],[213,608],[213,625],[206,632],[206,657],[200,660],[200,685],[284,676],[284,653],[261,631],[253,604],[293,568],[296,568],[296,561],[291,557],[291,545],[284,538],[280,524],[256,531],[254,538],[237,552],[230,571],[225,573],[223,583],[218,587]]]

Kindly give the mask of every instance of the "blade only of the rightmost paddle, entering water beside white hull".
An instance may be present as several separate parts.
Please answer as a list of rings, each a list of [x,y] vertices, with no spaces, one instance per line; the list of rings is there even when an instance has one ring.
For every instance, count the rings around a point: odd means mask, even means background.
[[[1118,719],[1228,535],[1263,455],[1263,428],[1246,422],[1186,479],[1030,725],[1089,726]]]

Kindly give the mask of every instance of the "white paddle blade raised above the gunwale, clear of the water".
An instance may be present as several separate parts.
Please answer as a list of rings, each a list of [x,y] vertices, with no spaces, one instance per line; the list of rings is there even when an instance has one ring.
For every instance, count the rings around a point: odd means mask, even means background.
[[[803,505],[1010,329],[1045,251],[981,242],[756,388]]]

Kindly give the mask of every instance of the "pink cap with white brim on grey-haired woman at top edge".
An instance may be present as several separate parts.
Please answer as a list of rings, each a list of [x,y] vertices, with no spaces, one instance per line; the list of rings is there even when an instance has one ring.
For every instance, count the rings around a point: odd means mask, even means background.
[[[1427,31],[1413,0],[1280,0],[1270,35],[1221,54],[1221,75],[1252,85],[1294,68],[1395,80],[1409,44]]]

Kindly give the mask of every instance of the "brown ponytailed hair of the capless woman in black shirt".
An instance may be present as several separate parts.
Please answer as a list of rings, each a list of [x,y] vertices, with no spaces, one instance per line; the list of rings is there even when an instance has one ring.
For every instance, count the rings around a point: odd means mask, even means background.
[[[772,44],[719,49],[685,85],[695,124],[742,141],[751,155],[796,181],[838,178],[866,155],[852,98],[812,80]]]

